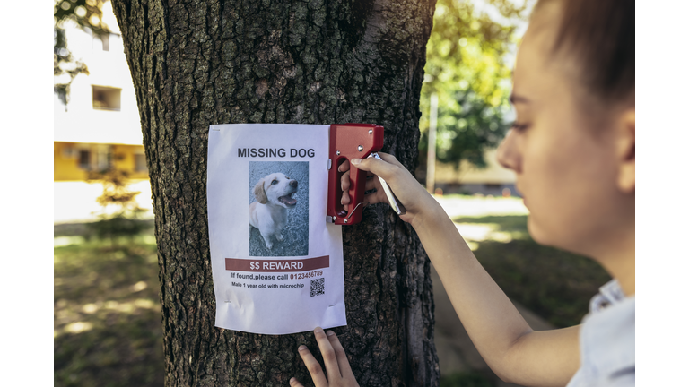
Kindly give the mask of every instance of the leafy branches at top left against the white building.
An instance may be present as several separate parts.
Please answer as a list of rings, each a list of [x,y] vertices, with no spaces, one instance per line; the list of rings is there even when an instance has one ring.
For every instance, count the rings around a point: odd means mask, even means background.
[[[65,22],[74,22],[82,30],[95,35],[108,34],[108,26],[102,22],[102,6],[109,0],[56,0],[53,5],[53,75],[56,78],[53,90],[67,105],[69,88],[80,73],[89,75],[89,69],[82,61],[74,60],[67,47]],[[61,75],[68,77],[60,77]]]

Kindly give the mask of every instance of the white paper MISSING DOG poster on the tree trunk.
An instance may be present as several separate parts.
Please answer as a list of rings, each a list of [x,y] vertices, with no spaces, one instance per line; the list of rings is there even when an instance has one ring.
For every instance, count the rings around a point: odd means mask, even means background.
[[[346,325],[342,226],[327,223],[329,125],[211,125],[215,325],[288,334]]]

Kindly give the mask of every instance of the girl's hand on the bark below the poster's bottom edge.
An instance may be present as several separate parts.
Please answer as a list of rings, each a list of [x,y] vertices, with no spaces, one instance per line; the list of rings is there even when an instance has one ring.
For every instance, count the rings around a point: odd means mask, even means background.
[[[327,331],[326,334],[322,328],[318,327],[313,330],[313,334],[316,336],[318,348],[320,348],[320,353],[326,364],[327,378],[326,374],[323,374],[323,369],[318,364],[316,357],[311,355],[309,348],[302,345],[299,348],[299,355],[309,370],[316,387],[359,387],[359,383],[356,383],[352,373],[352,368],[349,366],[345,348],[342,348],[335,332]],[[299,383],[296,378],[290,379],[290,385],[303,387],[303,384]]]

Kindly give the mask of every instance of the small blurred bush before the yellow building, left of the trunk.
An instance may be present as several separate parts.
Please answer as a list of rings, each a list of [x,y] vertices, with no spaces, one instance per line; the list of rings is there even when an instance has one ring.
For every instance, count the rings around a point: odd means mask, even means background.
[[[140,192],[129,189],[128,173],[117,168],[109,168],[89,174],[90,181],[100,181],[103,185],[103,193],[96,198],[103,207],[99,221],[93,222],[91,228],[100,238],[109,237],[113,243],[118,236],[135,236],[141,233],[147,224],[139,220],[144,212],[136,202],[136,196]],[[115,206],[117,211],[107,214],[105,209]]]

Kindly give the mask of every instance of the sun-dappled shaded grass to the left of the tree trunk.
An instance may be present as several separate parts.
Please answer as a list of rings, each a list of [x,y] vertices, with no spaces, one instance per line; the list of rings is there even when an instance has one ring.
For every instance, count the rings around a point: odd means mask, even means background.
[[[56,247],[54,258],[55,385],[161,386],[155,245],[91,241]]]

